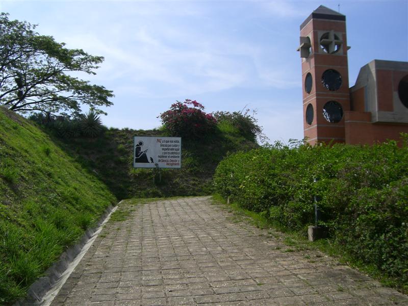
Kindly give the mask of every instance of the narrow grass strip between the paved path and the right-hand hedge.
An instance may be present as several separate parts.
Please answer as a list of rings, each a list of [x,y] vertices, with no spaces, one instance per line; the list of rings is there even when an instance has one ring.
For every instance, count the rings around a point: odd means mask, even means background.
[[[247,209],[241,208],[237,203],[230,202],[230,205],[226,204],[226,201],[218,194],[213,196],[214,205],[221,205],[227,210],[231,210],[235,214],[235,220],[241,222],[246,220],[254,226],[259,228],[270,228],[273,231],[268,231],[270,236],[276,239],[282,239],[289,248],[283,248],[283,252],[304,251],[304,250],[320,250],[328,256],[336,258],[341,264],[348,265],[351,268],[357,269],[364,274],[369,275],[372,278],[377,279],[383,285],[395,288],[400,292],[407,294],[408,287],[402,283],[398,278],[387,277],[384,273],[374,265],[368,265],[362,261],[356,260],[351,254],[344,251],[344,247],[336,244],[330,239],[320,239],[314,242],[310,242],[307,237],[307,232],[289,231],[287,228],[279,226],[276,222],[270,222],[262,213],[255,213]],[[275,247],[275,249],[281,249],[281,247]],[[322,257],[320,254],[316,254],[313,258],[310,254],[304,256],[310,263],[315,263],[318,258]],[[341,291],[342,288],[338,288]]]

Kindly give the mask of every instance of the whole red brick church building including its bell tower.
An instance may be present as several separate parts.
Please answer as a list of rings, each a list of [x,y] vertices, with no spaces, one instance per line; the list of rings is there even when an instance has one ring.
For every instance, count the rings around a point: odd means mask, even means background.
[[[371,144],[408,133],[408,62],[373,60],[349,88],[346,16],[318,7],[300,25],[303,131],[310,144]]]

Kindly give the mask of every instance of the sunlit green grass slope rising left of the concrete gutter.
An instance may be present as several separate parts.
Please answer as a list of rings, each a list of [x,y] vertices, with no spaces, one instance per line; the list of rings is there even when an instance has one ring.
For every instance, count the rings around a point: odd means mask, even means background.
[[[0,304],[24,297],[116,201],[48,135],[0,107]]]

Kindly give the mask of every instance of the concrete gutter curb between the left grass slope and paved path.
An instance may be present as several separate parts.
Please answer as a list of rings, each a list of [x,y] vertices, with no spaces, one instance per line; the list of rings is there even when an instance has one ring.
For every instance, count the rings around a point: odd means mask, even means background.
[[[15,302],[13,306],[49,305],[121,202],[116,206],[110,205],[97,225],[94,228],[88,228],[81,240],[64,251],[59,260],[45,271],[46,276],[38,278],[30,286],[27,298]]]

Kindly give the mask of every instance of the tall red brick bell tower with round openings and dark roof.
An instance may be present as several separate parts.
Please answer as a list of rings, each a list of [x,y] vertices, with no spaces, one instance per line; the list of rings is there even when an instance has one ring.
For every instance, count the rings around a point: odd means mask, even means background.
[[[303,132],[307,141],[345,142],[350,110],[346,16],[319,6],[300,25]]]

